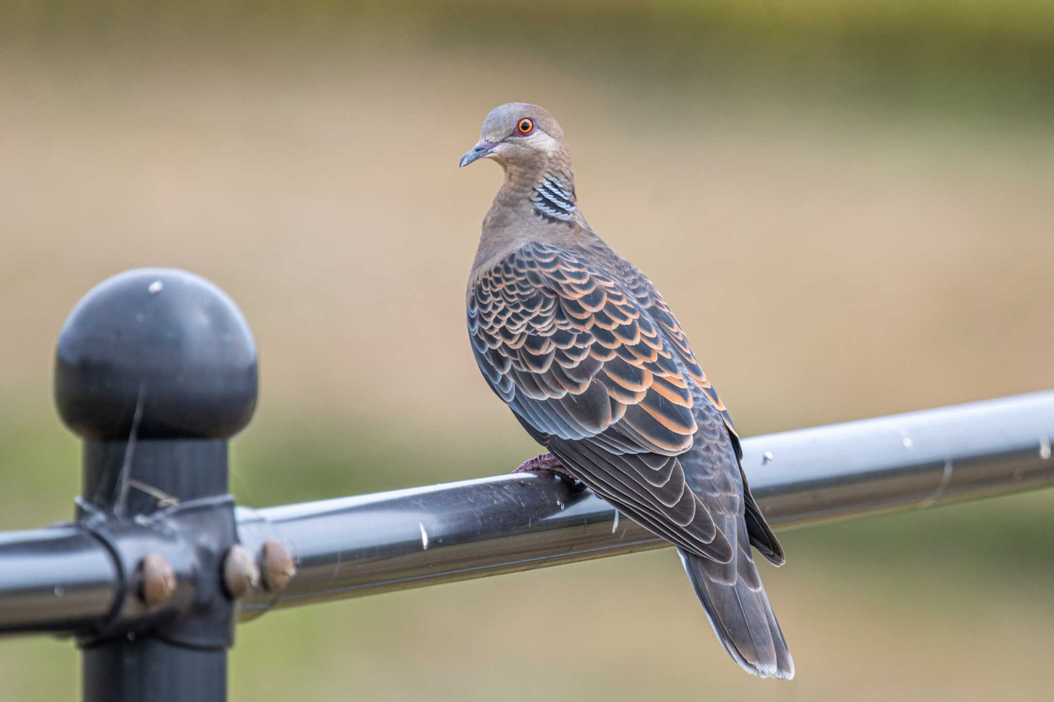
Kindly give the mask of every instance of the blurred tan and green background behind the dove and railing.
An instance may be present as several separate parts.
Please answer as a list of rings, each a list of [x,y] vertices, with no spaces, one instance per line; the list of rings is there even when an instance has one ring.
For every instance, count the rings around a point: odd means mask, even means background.
[[[253,326],[243,504],[533,456],[462,307],[500,173],[455,161],[511,100],[561,120],[584,212],[743,434],[1051,386],[1049,0],[6,0],[0,528],[71,516],[54,344],[132,266],[199,273]],[[762,575],[792,683],[727,659],[662,550],[269,615],[231,699],[1041,699],[1052,505],[785,533]],[[0,700],[78,676],[67,641],[0,641]]]

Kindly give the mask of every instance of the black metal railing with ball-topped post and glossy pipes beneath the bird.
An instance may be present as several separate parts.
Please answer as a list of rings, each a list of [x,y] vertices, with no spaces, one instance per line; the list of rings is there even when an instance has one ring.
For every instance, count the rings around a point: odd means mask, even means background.
[[[260,509],[227,494],[256,401],[248,324],[190,274],[93,289],[59,341],[84,438],[74,522],[0,534],[0,631],[74,634],[83,699],[221,700],[236,621],[667,546],[581,485],[516,474]],[[779,528],[1054,484],[1054,392],[746,439]]]

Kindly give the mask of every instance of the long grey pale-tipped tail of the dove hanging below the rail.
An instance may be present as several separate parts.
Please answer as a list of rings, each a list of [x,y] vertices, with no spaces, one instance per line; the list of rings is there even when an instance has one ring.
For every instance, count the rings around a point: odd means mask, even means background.
[[[794,678],[787,642],[749,557],[740,551],[731,563],[722,564],[682,548],[677,553],[728,655],[761,678]]]

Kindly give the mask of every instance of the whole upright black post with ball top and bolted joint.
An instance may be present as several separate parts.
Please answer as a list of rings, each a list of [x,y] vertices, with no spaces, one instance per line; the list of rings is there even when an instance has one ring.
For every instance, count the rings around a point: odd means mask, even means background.
[[[84,439],[77,524],[119,581],[104,622],[80,637],[85,702],[226,699],[234,605],[221,570],[237,541],[227,442],[256,394],[249,325],[197,276],[123,273],[66,320],[55,397]]]

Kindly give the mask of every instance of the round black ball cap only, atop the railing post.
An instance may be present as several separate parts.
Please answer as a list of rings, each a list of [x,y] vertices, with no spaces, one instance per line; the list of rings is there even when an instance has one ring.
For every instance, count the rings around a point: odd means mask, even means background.
[[[256,344],[218,287],[138,268],[94,287],[62,327],[55,398],[85,439],[227,439],[256,406]]]

